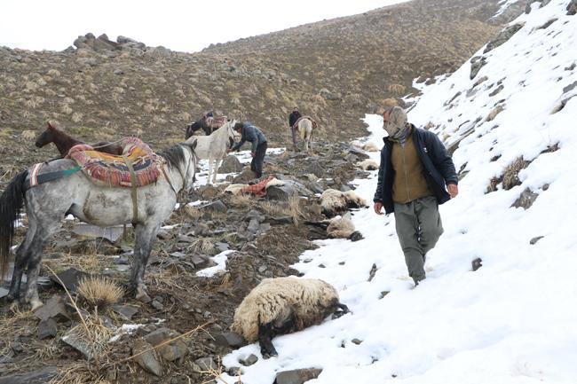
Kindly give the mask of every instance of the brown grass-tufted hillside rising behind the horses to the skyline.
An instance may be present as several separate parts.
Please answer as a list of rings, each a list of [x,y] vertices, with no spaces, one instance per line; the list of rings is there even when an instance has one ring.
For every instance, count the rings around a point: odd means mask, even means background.
[[[53,155],[33,146],[47,120],[88,142],[136,135],[158,148],[214,109],[286,145],[298,105],[320,122],[317,137],[359,136],[362,114],[486,43],[497,3],[409,2],[193,54],[91,34],[61,52],[0,48],[0,154],[11,159],[0,184],[12,168]]]

